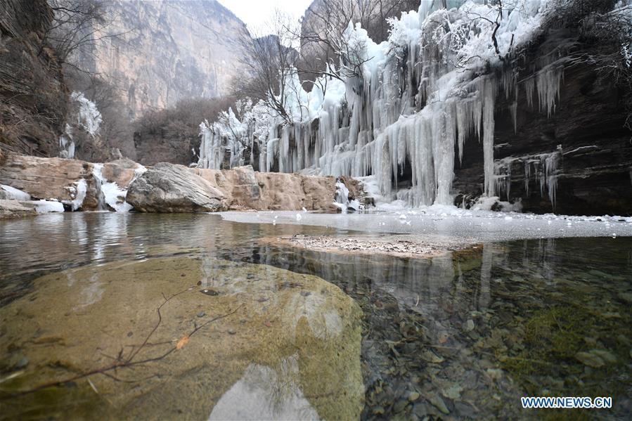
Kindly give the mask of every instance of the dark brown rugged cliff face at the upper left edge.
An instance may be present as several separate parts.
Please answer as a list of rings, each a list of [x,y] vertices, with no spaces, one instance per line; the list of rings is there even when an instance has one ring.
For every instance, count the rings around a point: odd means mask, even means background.
[[[67,91],[53,51],[44,44],[53,13],[46,0],[0,2],[0,146],[55,156]]]

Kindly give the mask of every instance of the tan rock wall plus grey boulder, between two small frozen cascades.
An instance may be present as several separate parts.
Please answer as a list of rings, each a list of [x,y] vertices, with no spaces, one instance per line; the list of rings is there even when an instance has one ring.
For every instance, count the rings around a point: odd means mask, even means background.
[[[131,183],[127,201],[141,212],[337,212],[335,190],[335,178],[328,176],[259,173],[250,165],[219,170],[162,162]]]

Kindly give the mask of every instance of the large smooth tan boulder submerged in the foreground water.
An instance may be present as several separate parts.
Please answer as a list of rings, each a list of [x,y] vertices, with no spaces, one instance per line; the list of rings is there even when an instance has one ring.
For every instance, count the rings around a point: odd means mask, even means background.
[[[247,281],[248,273],[258,281]],[[221,294],[200,294],[198,280]],[[285,282],[297,287],[283,288]],[[179,411],[195,420],[361,415],[362,312],[340,288],[316,276],[178,257],[72,268],[33,285],[37,290],[0,309],[0,361],[11,358],[9,344],[29,361],[22,375],[2,384],[6,391],[103,368],[118,355],[129,358],[155,327],[163,294],[180,292],[162,306],[162,323],[134,361],[181,347],[157,361],[110,372],[124,382],[89,377],[98,394],[79,379],[75,387],[12,398],[11,406],[0,406],[5,417],[84,419],[98,413],[103,419],[173,420],[183,416]],[[305,290],[311,294],[300,294]],[[262,295],[269,300],[257,302]],[[200,311],[207,316],[198,318]],[[195,326],[231,311],[191,335]],[[32,404],[44,401],[37,408]]]

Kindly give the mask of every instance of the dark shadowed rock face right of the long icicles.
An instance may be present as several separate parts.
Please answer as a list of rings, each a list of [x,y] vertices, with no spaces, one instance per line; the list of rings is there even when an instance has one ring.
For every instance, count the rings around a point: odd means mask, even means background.
[[[572,54],[581,58],[594,53],[592,48],[579,44]],[[534,56],[542,53],[539,48]],[[536,93],[529,105],[524,84],[518,89],[515,131],[511,104],[502,92],[496,102],[494,160],[501,175],[496,195],[510,202],[522,200],[524,212],[631,215],[632,132],[624,127],[626,92],[612,76],[581,60],[566,65],[550,117],[546,110],[539,111]],[[482,147],[476,138],[468,139],[463,162],[457,158],[455,164],[453,188],[480,195],[483,174]],[[549,186],[555,183],[550,195]]]

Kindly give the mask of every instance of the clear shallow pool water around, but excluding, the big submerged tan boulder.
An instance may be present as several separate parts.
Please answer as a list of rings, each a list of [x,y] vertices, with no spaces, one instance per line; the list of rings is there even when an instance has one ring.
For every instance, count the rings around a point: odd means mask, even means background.
[[[632,411],[632,238],[486,243],[420,260],[257,242],[271,235],[348,232],[238,224],[217,215],[76,213],[0,222],[0,299],[4,306],[27,301],[41,288],[34,283],[41,275],[85,265],[96,265],[87,266],[89,271],[110,270],[112,261],[195,259],[201,262],[196,276],[205,285],[226,266],[221,261],[266,265],[259,267],[316,275],[359,304],[363,418],[625,419]],[[165,271],[153,273],[157,282]],[[266,282],[266,276],[257,277]],[[3,329],[0,344],[11,349]],[[11,349],[13,359],[1,366],[0,380],[15,373],[14,359],[27,351]],[[171,361],[179,362],[186,363],[175,356]],[[613,396],[614,408],[520,408],[520,396],[538,395]],[[304,396],[295,398],[304,403]],[[189,401],[191,394],[171,399]],[[72,414],[73,408],[65,410]]]

